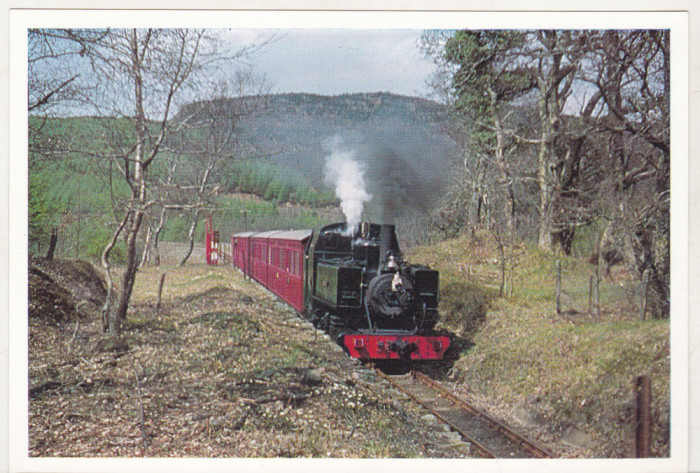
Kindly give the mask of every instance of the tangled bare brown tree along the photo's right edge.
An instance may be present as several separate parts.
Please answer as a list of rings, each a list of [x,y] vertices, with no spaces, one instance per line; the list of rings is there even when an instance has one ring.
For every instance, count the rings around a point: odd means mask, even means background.
[[[599,131],[608,137],[610,222],[630,242],[639,276],[649,270],[650,310],[670,307],[670,43],[663,30],[586,36],[584,78],[602,98]],[[611,230],[608,233],[612,233]],[[601,248],[601,253],[604,251]]]

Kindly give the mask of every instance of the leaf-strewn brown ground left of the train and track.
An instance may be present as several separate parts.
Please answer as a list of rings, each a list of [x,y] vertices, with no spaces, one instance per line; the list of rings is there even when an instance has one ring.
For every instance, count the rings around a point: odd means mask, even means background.
[[[29,282],[31,456],[468,456],[232,268],[140,272],[118,340],[101,333],[87,263],[34,260]]]

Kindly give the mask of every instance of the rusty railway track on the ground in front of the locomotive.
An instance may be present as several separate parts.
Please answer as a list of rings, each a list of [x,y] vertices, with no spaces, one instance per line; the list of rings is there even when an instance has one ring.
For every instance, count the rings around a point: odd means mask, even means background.
[[[546,448],[526,439],[423,373],[377,374],[404,392],[435,417],[459,432],[471,451],[484,458],[555,458]]]

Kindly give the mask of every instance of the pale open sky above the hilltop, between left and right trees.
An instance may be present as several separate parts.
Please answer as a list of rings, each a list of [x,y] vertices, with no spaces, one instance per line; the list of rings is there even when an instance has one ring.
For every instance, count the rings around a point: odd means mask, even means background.
[[[337,95],[392,92],[426,96],[433,69],[418,48],[420,30],[284,29],[227,31],[235,44],[274,35],[251,57],[273,92]]]

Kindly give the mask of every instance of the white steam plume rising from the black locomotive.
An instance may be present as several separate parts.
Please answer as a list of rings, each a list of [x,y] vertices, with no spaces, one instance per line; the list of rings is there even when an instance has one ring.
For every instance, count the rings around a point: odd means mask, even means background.
[[[347,222],[346,232],[354,234],[360,222],[365,202],[372,196],[367,193],[364,167],[355,159],[355,151],[343,149],[342,140],[335,137],[327,143],[331,153],[326,156],[326,183],[335,187],[340,208]]]

